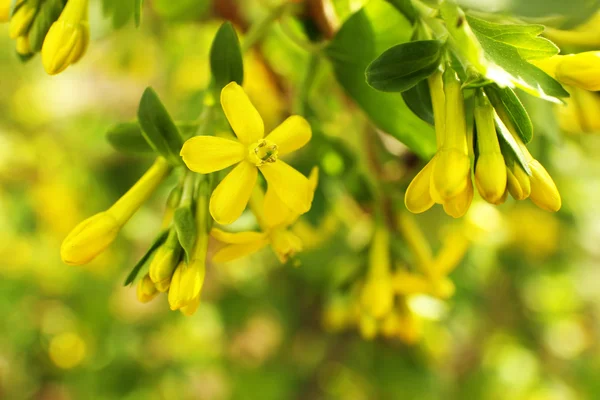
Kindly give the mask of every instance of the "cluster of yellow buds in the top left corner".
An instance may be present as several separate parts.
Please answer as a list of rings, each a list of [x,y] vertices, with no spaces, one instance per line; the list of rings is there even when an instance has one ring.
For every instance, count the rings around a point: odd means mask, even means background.
[[[8,21],[17,53],[28,59],[41,52],[50,75],[83,57],[89,43],[88,0],[0,0],[0,22]]]

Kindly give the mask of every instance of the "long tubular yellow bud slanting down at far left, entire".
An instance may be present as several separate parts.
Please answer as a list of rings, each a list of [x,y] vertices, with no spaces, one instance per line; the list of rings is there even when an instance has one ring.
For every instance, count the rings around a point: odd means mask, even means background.
[[[77,225],[62,243],[62,260],[69,265],[83,265],[106,250],[121,227],[150,197],[169,170],[167,161],[157,158],[152,167],[111,208]]]

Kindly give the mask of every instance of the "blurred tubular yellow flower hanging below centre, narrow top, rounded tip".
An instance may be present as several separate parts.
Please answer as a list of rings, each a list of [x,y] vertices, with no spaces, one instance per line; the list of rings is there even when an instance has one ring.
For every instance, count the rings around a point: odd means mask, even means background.
[[[383,318],[394,305],[390,265],[389,233],[377,226],[369,251],[369,271],[361,292],[361,305],[374,318]]]

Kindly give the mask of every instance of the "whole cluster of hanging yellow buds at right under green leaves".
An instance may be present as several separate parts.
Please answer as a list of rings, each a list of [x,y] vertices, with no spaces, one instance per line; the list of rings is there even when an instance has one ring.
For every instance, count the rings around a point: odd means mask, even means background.
[[[447,67],[443,73],[434,73],[429,87],[438,150],[409,185],[408,210],[421,213],[437,203],[448,215],[462,217],[474,196],[472,170],[477,191],[491,204],[504,203],[510,193],[516,200],[530,198],[548,211],[560,209],[554,181],[529,153],[502,104],[492,106],[487,92],[474,89],[475,121],[470,124],[455,71]]]

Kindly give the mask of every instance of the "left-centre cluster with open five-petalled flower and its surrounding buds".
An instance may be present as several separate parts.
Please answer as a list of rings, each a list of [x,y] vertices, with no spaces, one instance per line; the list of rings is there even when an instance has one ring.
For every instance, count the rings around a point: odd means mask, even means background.
[[[271,245],[285,263],[302,250],[302,241],[288,228],[311,208],[318,180],[316,168],[307,178],[279,158],[310,140],[311,128],[304,118],[291,116],[264,137],[262,118],[237,83],[222,89],[221,105],[238,140],[195,136],[183,144],[181,156],[187,168],[179,168],[182,179],[167,200],[161,233],[128,279],[140,276],[141,302],[167,293],[171,309],[185,315],[192,315],[200,303],[210,236],[222,243],[214,262]],[[213,190],[212,173],[233,165]],[[78,225],[63,242],[63,261],[81,265],[103,252],[171,167],[159,157],[115,205]],[[257,185],[258,171],[267,182],[266,193]],[[213,219],[221,225],[234,222],[248,203],[261,232],[233,233],[212,227]],[[147,269],[142,269],[147,262]]]

